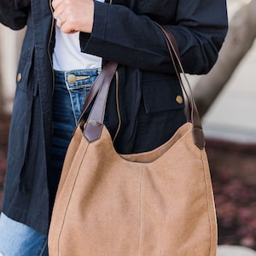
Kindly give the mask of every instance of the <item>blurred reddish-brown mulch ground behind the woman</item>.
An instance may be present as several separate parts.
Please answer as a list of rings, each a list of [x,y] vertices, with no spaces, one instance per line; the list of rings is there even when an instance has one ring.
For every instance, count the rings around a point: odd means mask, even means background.
[[[0,206],[9,116],[0,114]],[[218,215],[219,244],[256,249],[256,145],[207,141]]]

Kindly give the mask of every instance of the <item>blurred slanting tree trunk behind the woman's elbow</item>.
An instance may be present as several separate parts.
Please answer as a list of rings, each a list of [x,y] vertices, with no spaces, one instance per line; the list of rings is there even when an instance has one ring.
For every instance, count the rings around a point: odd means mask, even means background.
[[[256,0],[239,9],[230,20],[230,27],[218,61],[207,75],[195,84],[193,94],[201,116],[207,113],[212,102],[230,79],[241,59],[253,45],[256,37]]]

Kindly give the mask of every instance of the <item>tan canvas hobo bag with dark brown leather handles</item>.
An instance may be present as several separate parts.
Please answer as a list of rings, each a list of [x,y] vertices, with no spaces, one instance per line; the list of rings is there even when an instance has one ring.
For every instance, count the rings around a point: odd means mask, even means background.
[[[177,47],[165,28],[177,76]],[[201,121],[189,92],[188,122],[159,148],[117,154],[103,125],[110,62],[85,102],[67,150],[49,229],[50,256],[215,256],[217,224]],[[166,128],[167,129],[167,128]]]

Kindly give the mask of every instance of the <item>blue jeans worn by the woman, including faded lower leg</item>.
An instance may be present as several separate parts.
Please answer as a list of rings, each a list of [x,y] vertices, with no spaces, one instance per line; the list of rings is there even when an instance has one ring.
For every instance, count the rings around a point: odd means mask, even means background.
[[[53,206],[61,168],[73,131],[96,79],[98,69],[55,71],[53,96],[54,136],[49,170],[49,203]],[[0,256],[47,256],[47,236],[5,214],[0,218]]]

